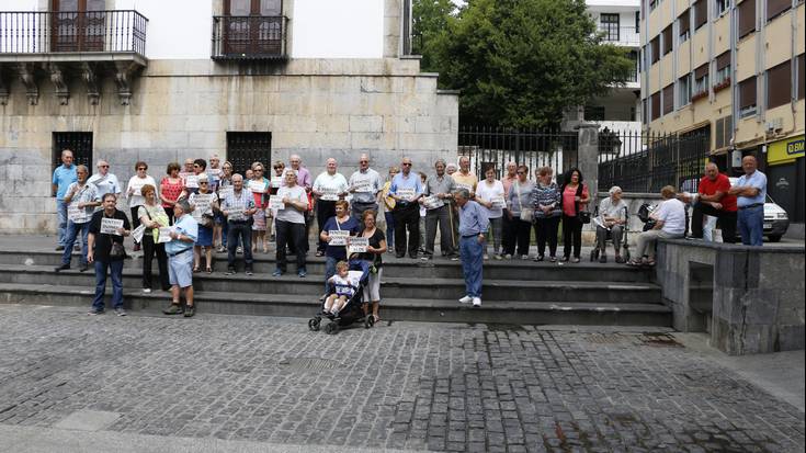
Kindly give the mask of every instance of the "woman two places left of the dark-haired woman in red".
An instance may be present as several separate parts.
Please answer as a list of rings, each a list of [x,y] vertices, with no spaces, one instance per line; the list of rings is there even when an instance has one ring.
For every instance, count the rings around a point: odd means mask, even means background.
[[[515,170],[516,178],[507,193],[507,216],[510,220],[510,234],[514,237],[504,246],[504,256],[512,258],[518,246],[518,256],[529,259],[529,239],[532,234],[532,190],[534,183],[529,180],[529,167],[520,166]]]

